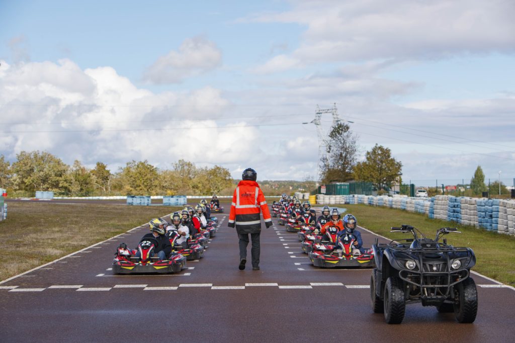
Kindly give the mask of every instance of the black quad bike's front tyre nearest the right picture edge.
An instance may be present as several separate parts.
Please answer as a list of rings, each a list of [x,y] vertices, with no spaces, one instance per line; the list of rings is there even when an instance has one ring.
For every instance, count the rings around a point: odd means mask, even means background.
[[[458,302],[454,304],[454,315],[460,323],[472,323],[477,315],[477,289],[472,278],[458,283],[455,294]]]

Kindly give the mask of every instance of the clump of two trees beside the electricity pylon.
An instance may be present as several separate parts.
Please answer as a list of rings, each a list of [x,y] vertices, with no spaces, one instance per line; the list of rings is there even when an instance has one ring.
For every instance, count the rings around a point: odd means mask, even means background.
[[[327,156],[322,156],[319,164],[322,184],[366,181],[383,194],[402,182],[402,163],[391,156],[389,148],[376,144],[366,152],[364,161],[357,161],[357,136],[344,122],[333,125],[324,145]]]

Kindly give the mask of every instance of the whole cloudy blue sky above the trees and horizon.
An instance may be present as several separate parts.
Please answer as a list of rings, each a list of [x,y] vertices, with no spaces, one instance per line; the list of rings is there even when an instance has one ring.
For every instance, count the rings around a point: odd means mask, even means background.
[[[389,147],[406,179],[481,165],[508,183],[514,14],[501,0],[1,1],[0,153],[303,179],[318,142],[301,122],[336,103],[362,155]]]

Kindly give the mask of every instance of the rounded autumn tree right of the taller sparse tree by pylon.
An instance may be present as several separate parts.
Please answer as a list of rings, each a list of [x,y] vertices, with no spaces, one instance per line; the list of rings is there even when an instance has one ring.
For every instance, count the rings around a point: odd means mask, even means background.
[[[365,154],[365,161],[356,164],[353,175],[355,180],[371,182],[383,192],[391,188],[401,168],[402,163],[391,156],[390,149],[376,144]]]

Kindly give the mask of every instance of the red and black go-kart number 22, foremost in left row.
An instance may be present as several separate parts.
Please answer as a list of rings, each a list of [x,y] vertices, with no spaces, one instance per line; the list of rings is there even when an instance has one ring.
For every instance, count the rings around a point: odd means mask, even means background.
[[[159,261],[153,256],[156,246],[158,241],[154,238],[143,238],[138,248],[132,250],[127,244],[120,244],[113,260],[113,274],[177,273],[186,266],[186,258],[177,252],[172,252],[167,260]],[[136,257],[138,251],[140,257]]]

